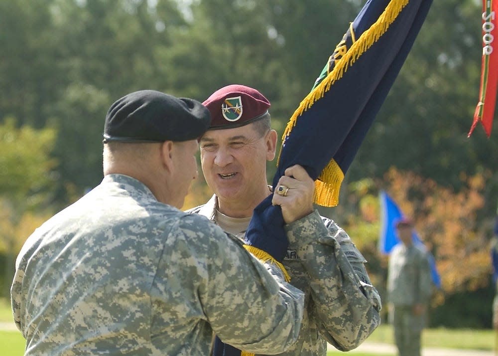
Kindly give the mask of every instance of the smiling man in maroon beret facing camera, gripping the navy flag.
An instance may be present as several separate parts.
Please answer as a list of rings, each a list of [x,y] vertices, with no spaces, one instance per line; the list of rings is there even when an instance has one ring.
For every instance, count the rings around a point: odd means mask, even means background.
[[[203,104],[212,120],[199,140],[201,164],[214,195],[189,212],[244,240],[254,208],[272,194],[286,223],[289,247],[282,268],[306,293],[305,315],[297,342],[278,355],[325,356],[327,342],[343,351],[356,348],[379,323],[380,297],[351,238],[314,209],[315,184],[301,166],[280,178],[278,186],[285,188],[274,192],[268,186],[266,163],[275,158],[277,142],[270,102],[256,89],[233,84]],[[250,355],[230,343],[217,335],[213,355]]]

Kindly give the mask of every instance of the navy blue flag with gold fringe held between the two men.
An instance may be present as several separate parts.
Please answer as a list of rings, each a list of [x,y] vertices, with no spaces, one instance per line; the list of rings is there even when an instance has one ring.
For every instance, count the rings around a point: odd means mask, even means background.
[[[315,180],[315,202],[335,206],[344,175],[360,148],[432,0],[368,0],[329,57],[312,91],[290,118],[273,187],[301,165]],[[271,195],[253,211],[246,244],[281,261],[287,237]]]

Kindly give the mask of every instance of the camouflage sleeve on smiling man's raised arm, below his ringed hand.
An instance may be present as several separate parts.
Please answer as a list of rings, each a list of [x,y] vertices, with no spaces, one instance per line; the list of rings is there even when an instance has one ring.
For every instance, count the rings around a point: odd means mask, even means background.
[[[320,333],[341,351],[355,349],[380,324],[380,297],[365,259],[346,232],[332,221],[326,226],[316,210],[286,230],[309,277]]]

